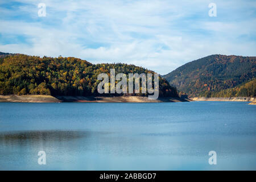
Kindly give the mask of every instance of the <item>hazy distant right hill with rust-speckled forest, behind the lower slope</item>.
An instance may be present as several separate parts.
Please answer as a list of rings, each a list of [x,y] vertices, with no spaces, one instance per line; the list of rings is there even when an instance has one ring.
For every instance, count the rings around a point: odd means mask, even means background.
[[[164,75],[189,96],[210,96],[255,78],[256,57],[211,55]]]

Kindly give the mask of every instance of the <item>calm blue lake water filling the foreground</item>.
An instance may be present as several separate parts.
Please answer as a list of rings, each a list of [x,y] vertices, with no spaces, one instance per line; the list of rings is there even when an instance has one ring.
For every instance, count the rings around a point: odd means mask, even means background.
[[[0,169],[255,170],[247,104],[0,103]]]

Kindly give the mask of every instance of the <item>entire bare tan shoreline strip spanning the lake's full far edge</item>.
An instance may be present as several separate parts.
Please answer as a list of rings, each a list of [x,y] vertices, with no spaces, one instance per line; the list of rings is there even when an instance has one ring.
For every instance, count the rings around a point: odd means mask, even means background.
[[[190,102],[190,101],[238,101],[250,102],[250,105],[256,105],[256,98],[253,97],[159,97],[157,100],[148,100],[148,97],[141,96],[117,96],[117,97],[84,97],[84,96],[48,96],[48,95],[0,95],[0,102]]]

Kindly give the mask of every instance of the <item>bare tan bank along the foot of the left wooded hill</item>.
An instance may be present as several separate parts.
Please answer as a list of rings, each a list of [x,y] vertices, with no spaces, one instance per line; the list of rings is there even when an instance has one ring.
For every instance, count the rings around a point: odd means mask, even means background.
[[[148,100],[148,97],[84,97],[84,96],[47,96],[47,95],[0,95],[0,102],[189,102],[189,99],[177,97],[159,97],[158,100]]]

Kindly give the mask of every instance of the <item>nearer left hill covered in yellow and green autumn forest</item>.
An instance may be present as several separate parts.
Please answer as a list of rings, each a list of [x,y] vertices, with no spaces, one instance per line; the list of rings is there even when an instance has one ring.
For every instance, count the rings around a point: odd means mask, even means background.
[[[92,64],[75,57],[41,58],[7,55],[0,58],[0,94],[97,96],[99,95],[97,85],[100,82],[97,80],[98,74],[108,73],[110,76],[112,68],[115,69],[115,75],[117,73],[154,73],[135,65]],[[146,96],[146,94],[140,95]],[[159,96],[177,97],[176,88],[170,86],[161,77],[159,78]]]

